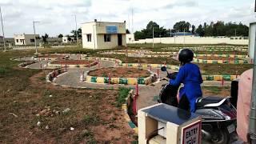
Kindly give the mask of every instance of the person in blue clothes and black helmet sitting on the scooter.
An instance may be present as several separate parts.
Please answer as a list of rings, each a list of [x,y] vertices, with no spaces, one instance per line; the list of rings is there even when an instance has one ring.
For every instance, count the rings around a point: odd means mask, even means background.
[[[194,58],[194,53],[190,49],[180,50],[178,60],[181,62],[181,67],[178,70],[177,77],[173,80],[170,79],[170,86],[180,86],[184,84],[179,90],[179,103],[178,108],[183,110],[196,110],[196,99],[202,97],[201,83],[202,75],[199,67],[191,61]]]

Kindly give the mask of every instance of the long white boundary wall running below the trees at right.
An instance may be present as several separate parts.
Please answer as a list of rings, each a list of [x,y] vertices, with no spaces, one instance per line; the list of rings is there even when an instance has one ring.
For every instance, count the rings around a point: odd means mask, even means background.
[[[152,38],[140,39],[130,43],[152,43]],[[169,37],[169,38],[154,38],[154,43],[170,43],[170,44],[236,44],[248,45],[248,39],[230,39],[230,38],[214,38],[214,37]]]

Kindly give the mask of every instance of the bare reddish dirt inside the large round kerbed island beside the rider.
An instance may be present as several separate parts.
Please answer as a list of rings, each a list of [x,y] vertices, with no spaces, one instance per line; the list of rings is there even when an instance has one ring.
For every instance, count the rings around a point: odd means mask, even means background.
[[[113,78],[146,78],[150,76],[148,70],[126,67],[111,67],[92,70],[88,75],[96,77],[113,77]]]

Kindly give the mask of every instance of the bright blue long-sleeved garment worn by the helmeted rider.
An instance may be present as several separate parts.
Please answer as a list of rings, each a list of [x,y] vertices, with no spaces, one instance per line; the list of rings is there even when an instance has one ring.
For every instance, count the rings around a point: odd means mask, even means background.
[[[181,83],[184,84],[184,87],[179,90],[179,99],[186,94],[186,97],[190,101],[190,111],[194,112],[196,109],[196,99],[202,97],[200,86],[202,83],[202,75],[199,67],[190,62],[181,66],[175,80],[170,79],[170,85],[179,86]]]

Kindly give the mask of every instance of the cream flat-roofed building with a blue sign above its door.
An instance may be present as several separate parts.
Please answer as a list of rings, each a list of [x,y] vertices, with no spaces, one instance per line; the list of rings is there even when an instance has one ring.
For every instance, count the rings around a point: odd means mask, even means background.
[[[126,22],[86,22],[82,24],[82,47],[110,49],[126,46]]]

